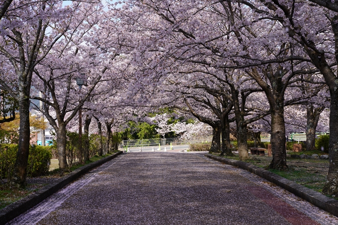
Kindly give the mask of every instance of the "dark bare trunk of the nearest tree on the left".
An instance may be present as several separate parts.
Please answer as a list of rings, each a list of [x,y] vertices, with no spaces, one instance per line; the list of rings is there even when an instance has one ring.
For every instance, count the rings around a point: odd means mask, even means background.
[[[14,171],[12,175],[11,185],[14,187],[25,187],[27,176],[27,163],[29,155],[29,141],[30,141],[30,128],[29,128],[29,97],[20,92],[19,105],[20,105],[20,130],[19,130],[19,147],[16,154],[14,164]]]

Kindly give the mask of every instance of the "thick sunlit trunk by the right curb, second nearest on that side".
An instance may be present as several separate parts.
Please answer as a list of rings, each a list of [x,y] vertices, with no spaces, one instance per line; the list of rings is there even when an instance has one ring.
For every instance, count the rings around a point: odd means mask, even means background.
[[[271,169],[284,170],[286,165],[284,108],[281,106],[271,112]]]

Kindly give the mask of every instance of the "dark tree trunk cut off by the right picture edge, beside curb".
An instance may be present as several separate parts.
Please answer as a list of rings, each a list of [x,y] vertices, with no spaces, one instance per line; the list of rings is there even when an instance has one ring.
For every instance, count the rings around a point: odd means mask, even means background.
[[[338,90],[331,91],[329,173],[323,193],[338,196]]]

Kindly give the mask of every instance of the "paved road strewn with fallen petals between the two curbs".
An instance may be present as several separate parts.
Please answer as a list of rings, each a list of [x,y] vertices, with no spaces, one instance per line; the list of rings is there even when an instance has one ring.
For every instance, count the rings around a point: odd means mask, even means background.
[[[334,225],[338,218],[202,154],[124,153],[8,224]]]

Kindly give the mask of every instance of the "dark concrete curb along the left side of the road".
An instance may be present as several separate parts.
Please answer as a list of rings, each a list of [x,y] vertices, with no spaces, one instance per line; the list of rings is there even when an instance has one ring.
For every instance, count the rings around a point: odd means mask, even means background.
[[[43,200],[45,200],[46,198],[48,198],[49,196],[51,196],[64,186],[66,186],[67,184],[69,184],[70,182],[79,178],[81,175],[88,172],[90,169],[115,158],[117,155],[121,153],[122,151],[119,151],[112,155],[104,157],[100,160],[84,165],[74,170],[73,172],[69,173],[67,176],[61,177],[55,182],[41,188],[37,192],[8,205],[4,209],[0,210],[0,225],[4,225],[7,222],[13,220],[15,217],[36,206],[37,204],[39,204],[40,202],[42,202]]]

